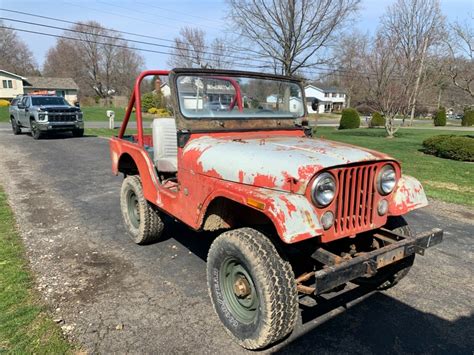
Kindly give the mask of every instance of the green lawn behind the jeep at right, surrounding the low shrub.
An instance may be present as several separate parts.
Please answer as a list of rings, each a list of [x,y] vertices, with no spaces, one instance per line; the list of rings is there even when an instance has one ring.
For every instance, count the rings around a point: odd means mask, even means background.
[[[318,127],[316,130],[316,137],[378,150],[398,159],[403,173],[419,179],[429,197],[474,206],[474,164],[438,158],[420,151],[424,139],[439,134],[472,134],[472,131],[402,128],[396,138],[388,139],[384,129],[339,131],[333,127]]]

